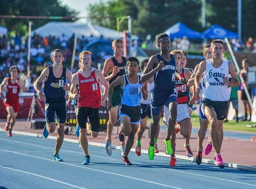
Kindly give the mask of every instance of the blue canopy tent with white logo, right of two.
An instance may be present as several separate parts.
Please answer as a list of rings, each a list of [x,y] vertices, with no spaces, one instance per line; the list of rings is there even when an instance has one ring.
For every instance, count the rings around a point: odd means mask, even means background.
[[[202,33],[204,35],[204,38],[206,39],[238,39],[239,36],[237,33],[229,31],[225,28],[222,28],[218,24],[214,24],[211,26],[211,28],[207,29]]]

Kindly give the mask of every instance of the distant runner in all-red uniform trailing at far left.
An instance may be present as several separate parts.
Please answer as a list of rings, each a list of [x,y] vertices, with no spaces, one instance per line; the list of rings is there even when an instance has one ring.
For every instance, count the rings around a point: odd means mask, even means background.
[[[26,92],[24,83],[18,78],[19,69],[17,66],[12,66],[9,69],[11,77],[6,77],[0,85],[0,95],[5,97],[5,106],[8,112],[5,130],[8,131],[8,137],[12,137],[12,128],[16,122],[16,117],[19,111],[19,90]],[[6,96],[3,93],[4,85],[6,86]]]

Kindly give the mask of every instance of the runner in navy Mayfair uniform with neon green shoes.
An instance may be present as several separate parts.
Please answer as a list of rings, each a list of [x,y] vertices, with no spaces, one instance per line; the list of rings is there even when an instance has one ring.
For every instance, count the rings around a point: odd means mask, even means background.
[[[182,83],[186,82],[176,72],[176,55],[169,54],[170,38],[166,33],[157,35],[157,45],[161,52],[150,57],[146,69],[142,73],[141,80],[145,82],[154,76],[154,88],[151,94],[152,121],[150,123],[150,142],[149,142],[149,159],[154,159],[155,142],[154,136],[160,121],[161,111],[164,106],[168,106],[170,115],[168,118],[168,126],[164,144],[166,145],[166,153],[172,154],[170,137],[177,118],[177,90],[175,87],[175,75],[177,75]]]

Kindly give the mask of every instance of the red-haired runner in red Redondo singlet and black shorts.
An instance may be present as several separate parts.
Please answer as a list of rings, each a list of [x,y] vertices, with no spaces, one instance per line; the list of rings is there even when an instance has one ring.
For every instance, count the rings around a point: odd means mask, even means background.
[[[106,98],[109,85],[100,70],[92,68],[92,54],[83,51],[79,55],[81,69],[72,76],[71,89],[69,96],[78,99],[77,122],[80,127],[79,141],[85,155],[83,165],[90,163],[88,154],[88,139],[86,130],[92,137],[97,137],[100,129],[99,107],[106,106]],[[76,85],[79,85],[79,92]],[[101,95],[100,84],[104,86],[103,97]],[[90,124],[87,123],[89,117]],[[91,125],[91,126],[90,126]]]

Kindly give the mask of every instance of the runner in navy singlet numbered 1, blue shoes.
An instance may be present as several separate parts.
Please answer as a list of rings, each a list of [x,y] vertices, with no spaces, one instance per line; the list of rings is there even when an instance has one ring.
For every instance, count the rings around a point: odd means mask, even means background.
[[[53,65],[45,68],[38,79],[35,81],[34,88],[39,94],[39,100],[45,101],[46,125],[43,129],[43,136],[48,137],[56,129],[55,113],[58,123],[58,136],[56,139],[53,158],[55,161],[63,161],[59,157],[59,149],[64,139],[64,126],[66,122],[66,99],[65,90],[69,91],[66,79],[71,84],[71,73],[62,66],[64,61],[62,50],[56,49],[52,52]],[[40,91],[39,84],[45,81],[44,94]]]

